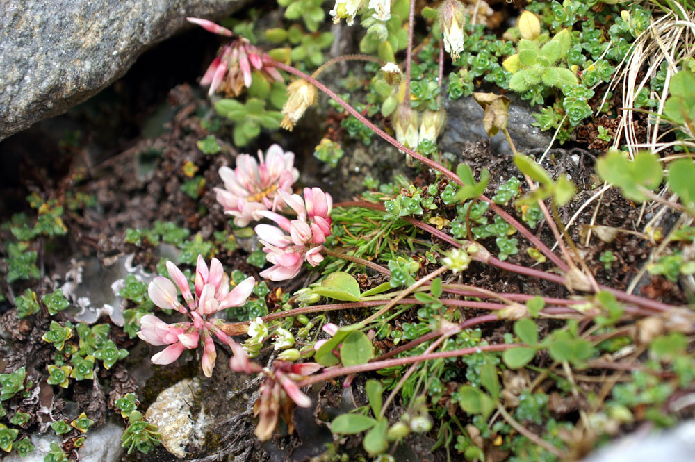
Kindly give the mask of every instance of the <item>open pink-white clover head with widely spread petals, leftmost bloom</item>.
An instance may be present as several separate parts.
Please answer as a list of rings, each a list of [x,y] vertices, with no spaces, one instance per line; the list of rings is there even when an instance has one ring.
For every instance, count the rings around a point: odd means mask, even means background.
[[[152,356],[154,364],[170,364],[181,356],[184,349],[195,349],[202,345],[203,373],[211,377],[217,357],[213,336],[227,345],[236,344],[220,330],[222,321],[214,319],[212,315],[225,308],[245,304],[255,280],[249,277],[230,290],[229,277],[224,273],[222,263],[213,258],[208,268],[202,255],[198,256],[193,291],[186,276],[174,263],[167,261],[167,270],[171,280],[155,277],[149,283],[147,293],[159,308],[179,311],[190,321],[167,324],[154,315],[145,315],[140,318],[138,337],[150,345],[169,345]],[[186,306],[179,302],[177,288]]]

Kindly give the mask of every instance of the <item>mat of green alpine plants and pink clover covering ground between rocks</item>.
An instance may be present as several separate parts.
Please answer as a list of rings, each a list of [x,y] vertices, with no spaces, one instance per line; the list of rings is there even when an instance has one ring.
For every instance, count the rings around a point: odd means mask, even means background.
[[[0,231],[0,449],[53,432],[44,460],[77,460],[110,419],[128,454],[159,450],[129,373],[143,343],[171,370],[260,377],[261,442],[298,438],[313,409],[333,435],[316,461],[578,459],[692,418],[693,5],[421,3],[190,18],[220,48],[202,91],[172,90],[167,133],[30,182]],[[338,27],[357,49],[329,58]],[[445,101],[467,97],[508,156],[441,149]],[[510,105],[553,141],[518,152]],[[297,154],[279,144],[295,137]],[[407,174],[341,197],[302,171],[375,145]],[[77,320],[65,247],[151,274],[113,289],[120,322]]]

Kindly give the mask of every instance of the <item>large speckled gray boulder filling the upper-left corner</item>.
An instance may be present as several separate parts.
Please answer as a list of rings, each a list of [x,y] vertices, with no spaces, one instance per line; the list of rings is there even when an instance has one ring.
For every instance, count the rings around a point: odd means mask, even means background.
[[[187,16],[223,17],[245,3],[1,1],[0,140],[96,94],[148,47],[187,26]]]

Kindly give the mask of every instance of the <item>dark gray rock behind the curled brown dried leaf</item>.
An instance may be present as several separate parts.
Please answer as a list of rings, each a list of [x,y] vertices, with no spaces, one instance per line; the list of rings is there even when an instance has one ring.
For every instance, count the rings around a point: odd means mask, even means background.
[[[521,101],[514,94],[506,95],[512,100],[509,105],[509,123],[507,129],[512,136],[514,145],[519,152],[527,149],[546,148],[550,139],[553,138],[552,131],[541,131],[536,126],[532,126],[536,119],[532,113],[537,113],[540,107],[530,108],[526,101]],[[444,151],[459,154],[465,147],[466,142],[476,142],[480,140],[490,140],[490,149],[493,154],[511,154],[507,138],[500,132],[489,138],[482,128],[482,108],[475,102],[473,97],[462,97],[455,100],[444,99],[447,123],[446,129],[441,135],[439,146]]]

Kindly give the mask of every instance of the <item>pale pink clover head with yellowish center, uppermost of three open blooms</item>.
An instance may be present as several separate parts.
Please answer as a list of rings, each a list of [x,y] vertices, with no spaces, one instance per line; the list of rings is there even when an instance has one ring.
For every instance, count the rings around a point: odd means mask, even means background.
[[[293,166],[295,155],[272,145],[268,151],[259,151],[259,160],[249,154],[236,158],[236,168],[220,167],[224,188],[214,188],[217,201],[224,213],[234,217],[236,226],[247,226],[261,220],[262,211],[276,211],[284,206],[279,192],[292,192],[292,185],[300,176]]]

